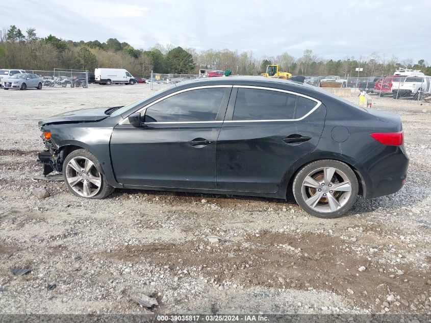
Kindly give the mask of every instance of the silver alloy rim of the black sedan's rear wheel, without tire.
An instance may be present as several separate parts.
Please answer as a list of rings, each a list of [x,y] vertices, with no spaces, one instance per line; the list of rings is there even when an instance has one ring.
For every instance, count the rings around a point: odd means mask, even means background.
[[[320,167],[311,171],[302,182],[301,195],[316,212],[330,213],[349,201],[352,184],[347,175],[335,167]]]

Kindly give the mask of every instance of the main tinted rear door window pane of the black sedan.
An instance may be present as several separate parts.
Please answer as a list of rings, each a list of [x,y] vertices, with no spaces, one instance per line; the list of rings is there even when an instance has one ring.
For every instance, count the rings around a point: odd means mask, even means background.
[[[292,119],[296,95],[261,89],[239,88],[233,120]]]

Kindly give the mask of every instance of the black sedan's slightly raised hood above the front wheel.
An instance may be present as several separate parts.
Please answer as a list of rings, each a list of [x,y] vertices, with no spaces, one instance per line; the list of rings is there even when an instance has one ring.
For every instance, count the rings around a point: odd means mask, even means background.
[[[83,109],[56,114],[39,121],[39,127],[59,123],[96,122],[108,117],[105,111],[109,108]]]

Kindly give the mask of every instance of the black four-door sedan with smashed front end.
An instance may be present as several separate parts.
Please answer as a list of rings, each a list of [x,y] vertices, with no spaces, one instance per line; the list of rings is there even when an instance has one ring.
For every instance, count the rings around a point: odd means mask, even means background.
[[[392,194],[409,159],[398,115],[310,85],[260,77],[182,82],[124,107],[39,122],[44,173],[104,198],[114,188],[286,198],[337,217]]]

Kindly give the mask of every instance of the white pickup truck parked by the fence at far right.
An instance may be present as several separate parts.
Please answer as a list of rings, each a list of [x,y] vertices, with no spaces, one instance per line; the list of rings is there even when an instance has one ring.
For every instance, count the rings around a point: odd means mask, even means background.
[[[431,77],[408,76],[392,82],[393,98],[411,97],[420,100],[422,97],[431,95]]]

